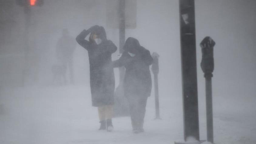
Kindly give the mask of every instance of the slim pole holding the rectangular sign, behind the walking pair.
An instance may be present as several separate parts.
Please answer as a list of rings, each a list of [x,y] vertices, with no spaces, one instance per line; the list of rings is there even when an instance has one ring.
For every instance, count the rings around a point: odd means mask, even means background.
[[[123,46],[125,43],[125,0],[119,1],[119,14],[120,14],[120,23],[119,23],[119,53],[123,53]],[[124,67],[119,68],[120,75],[120,85],[123,85],[125,69]]]

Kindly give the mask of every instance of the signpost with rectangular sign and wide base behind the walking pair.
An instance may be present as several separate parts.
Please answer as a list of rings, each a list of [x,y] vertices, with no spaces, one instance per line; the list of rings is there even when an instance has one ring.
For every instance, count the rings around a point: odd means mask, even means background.
[[[125,29],[136,28],[137,0],[108,0],[106,24],[109,28],[119,29],[119,56],[123,53],[125,44]],[[123,79],[125,68],[119,68],[119,85],[115,91],[115,116],[129,116],[129,105],[124,97]]]

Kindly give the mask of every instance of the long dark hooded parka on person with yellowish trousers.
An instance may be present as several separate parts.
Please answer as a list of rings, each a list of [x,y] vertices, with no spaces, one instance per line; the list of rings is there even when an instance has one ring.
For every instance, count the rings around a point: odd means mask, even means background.
[[[90,33],[96,34],[102,42],[97,44],[91,35],[89,41],[85,40]],[[117,50],[116,45],[106,39],[105,29],[98,25],[83,30],[76,41],[88,51],[92,105],[113,105],[115,79],[111,55]]]

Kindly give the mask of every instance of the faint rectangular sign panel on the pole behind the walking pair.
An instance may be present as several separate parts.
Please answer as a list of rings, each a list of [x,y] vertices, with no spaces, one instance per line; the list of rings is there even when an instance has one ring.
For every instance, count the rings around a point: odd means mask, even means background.
[[[120,0],[106,1],[106,24],[109,28],[120,28]],[[125,28],[136,28],[137,0],[125,0]]]

